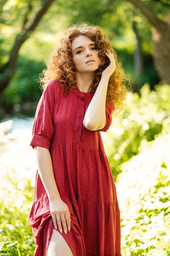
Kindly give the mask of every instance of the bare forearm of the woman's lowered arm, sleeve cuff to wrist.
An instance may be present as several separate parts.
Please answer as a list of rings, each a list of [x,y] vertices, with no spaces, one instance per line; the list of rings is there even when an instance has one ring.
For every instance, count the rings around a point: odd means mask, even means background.
[[[36,152],[36,159],[38,163],[38,173],[49,200],[53,200],[53,198],[60,198],[60,194],[55,183],[53,164],[49,150],[39,146],[36,146],[34,150]]]

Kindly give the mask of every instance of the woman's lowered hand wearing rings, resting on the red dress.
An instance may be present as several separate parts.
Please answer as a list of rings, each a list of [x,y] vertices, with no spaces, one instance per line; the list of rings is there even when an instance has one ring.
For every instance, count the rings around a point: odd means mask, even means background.
[[[67,230],[70,231],[71,229],[71,214],[68,206],[61,200],[61,198],[49,200],[49,204],[55,229],[57,229],[58,226],[60,233],[64,230],[64,233],[67,234]]]

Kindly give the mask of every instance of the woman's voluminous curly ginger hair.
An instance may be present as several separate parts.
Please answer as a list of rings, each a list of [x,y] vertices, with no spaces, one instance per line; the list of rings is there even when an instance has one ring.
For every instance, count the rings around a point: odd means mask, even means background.
[[[125,78],[121,63],[117,61],[117,54],[111,47],[108,37],[106,34],[102,33],[101,29],[97,26],[80,23],[66,29],[64,36],[60,39],[60,47],[51,54],[47,68],[44,69],[39,76],[41,87],[44,88],[46,84],[53,79],[59,81],[60,85],[64,88],[65,95],[68,95],[70,88],[76,87],[75,65],[73,63],[71,42],[74,38],[81,35],[88,36],[89,39],[95,42],[95,47],[99,50],[99,58],[102,60],[99,68],[95,71],[91,85],[93,92],[97,89],[103,70],[110,64],[108,57],[105,55],[106,49],[110,49],[113,53],[116,62],[116,70],[110,76],[108,82],[106,102],[113,103],[115,110],[120,112],[124,106],[127,79]]]

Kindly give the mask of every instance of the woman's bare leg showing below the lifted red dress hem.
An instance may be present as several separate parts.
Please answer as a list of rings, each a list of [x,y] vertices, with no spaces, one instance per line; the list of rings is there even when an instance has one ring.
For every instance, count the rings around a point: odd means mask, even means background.
[[[53,234],[51,236],[46,256],[73,256],[66,240],[55,229],[53,229]]]

